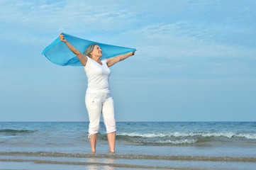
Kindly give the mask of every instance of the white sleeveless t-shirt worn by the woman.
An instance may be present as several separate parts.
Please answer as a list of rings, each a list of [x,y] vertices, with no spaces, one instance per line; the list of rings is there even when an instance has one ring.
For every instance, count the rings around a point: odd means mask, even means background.
[[[101,60],[102,65],[90,57],[87,59],[87,64],[84,66],[88,79],[87,93],[110,93],[108,84],[110,69],[106,64],[106,59]]]

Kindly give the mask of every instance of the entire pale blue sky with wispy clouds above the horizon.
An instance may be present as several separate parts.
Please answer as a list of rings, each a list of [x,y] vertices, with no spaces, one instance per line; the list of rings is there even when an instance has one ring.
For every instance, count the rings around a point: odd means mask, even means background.
[[[0,0],[0,121],[89,121],[60,33],[137,49],[111,68],[117,121],[256,121],[256,1]]]

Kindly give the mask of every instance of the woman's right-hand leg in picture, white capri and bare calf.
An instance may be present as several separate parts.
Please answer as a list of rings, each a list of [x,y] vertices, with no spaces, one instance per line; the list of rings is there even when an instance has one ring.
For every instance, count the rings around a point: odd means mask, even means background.
[[[109,96],[103,104],[102,115],[108,136],[109,153],[113,153],[115,152],[116,145],[116,120],[111,96]]]

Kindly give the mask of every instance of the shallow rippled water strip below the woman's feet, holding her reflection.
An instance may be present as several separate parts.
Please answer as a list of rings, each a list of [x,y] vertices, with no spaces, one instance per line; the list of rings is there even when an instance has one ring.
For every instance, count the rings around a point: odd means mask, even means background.
[[[0,169],[254,169],[255,157],[0,152]]]

